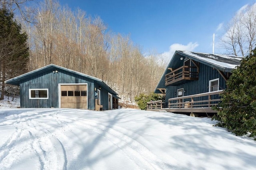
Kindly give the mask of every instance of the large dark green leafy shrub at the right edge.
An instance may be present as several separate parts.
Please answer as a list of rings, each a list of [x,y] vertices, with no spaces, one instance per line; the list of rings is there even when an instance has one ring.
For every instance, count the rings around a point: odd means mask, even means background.
[[[256,48],[232,70],[213,119],[236,135],[256,137]]]

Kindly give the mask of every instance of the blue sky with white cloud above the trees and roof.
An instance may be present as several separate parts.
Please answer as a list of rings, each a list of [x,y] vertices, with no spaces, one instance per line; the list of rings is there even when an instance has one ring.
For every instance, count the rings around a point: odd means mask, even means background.
[[[130,35],[144,53],[170,55],[175,50],[212,53],[224,26],[246,4],[256,0],[60,0],[100,16],[108,29]],[[223,53],[215,45],[214,53]]]

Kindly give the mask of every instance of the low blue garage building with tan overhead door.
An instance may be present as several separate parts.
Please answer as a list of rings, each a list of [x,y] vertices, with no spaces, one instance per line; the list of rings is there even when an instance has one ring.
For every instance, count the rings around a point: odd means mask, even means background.
[[[102,80],[54,64],[5,83],[20,86],[22,108],[118,108],[118,94]],[[97,101],[98,100],[98,101]],[[100,107],[97,107],[100,108]]]

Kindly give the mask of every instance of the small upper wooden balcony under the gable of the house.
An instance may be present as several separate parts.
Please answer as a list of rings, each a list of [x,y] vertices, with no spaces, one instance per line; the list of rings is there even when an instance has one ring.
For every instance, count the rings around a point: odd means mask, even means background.
[[[165,74],[165,85],[178,85],[182,83],[181,80],[198,80],[198,73],[198,67],[182,66],[168,74]]]

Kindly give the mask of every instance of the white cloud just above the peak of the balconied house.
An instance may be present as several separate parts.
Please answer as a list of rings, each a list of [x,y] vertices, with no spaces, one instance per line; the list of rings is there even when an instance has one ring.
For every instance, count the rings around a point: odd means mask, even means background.
[[[169,51],[162,53],[162,56],[164,56],[167,61],[170,61],[176,50],[193,51],[196,47],[198,47],[198,43],[190,42],[187,45],[175,43],[169,47]]]

